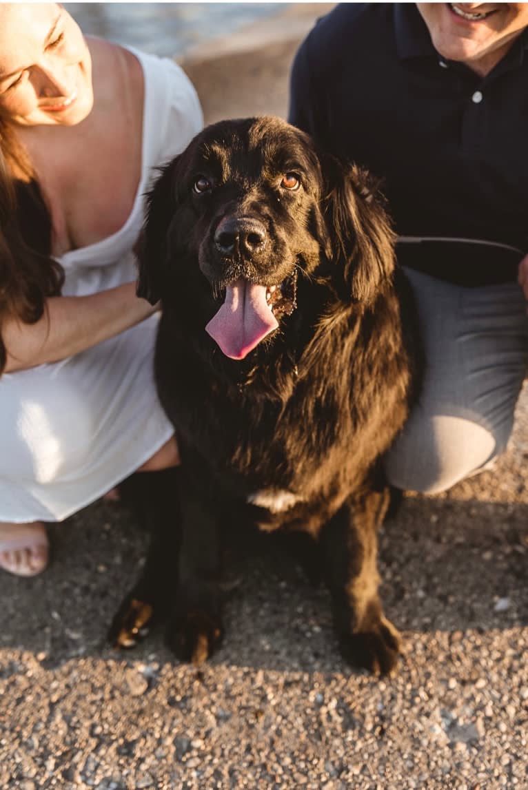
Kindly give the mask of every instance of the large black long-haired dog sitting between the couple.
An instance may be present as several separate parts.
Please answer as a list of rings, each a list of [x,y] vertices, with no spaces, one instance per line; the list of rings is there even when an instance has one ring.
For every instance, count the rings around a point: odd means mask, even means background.
[[[155,368],[182,458],[180,512],[155,536],[115,641],[133,643],[160,609],[180,657],[209,656],[222,635],[219,531],[243,518],[319,541],[345,657],[390,671],[379,459],[419,366],[412,296],[366,176],[278,119],[220,122],[164,168],[143,241],[138,292],[163,305]]]

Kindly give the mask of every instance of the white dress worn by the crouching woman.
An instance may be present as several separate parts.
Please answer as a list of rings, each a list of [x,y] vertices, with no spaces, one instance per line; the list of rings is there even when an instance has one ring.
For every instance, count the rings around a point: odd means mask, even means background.
[[[136,279],[132,247],[156,167],[202,128],[198,96],[168,58],[132,50],[145,76],[141,181],[119,231],[59,258],[64,295]],[[111,183],[101,189],[112,190]],[[158,316],[61,362],[0,376],[0,521],[62,521],[147,461],[172,435],[157,399]]]

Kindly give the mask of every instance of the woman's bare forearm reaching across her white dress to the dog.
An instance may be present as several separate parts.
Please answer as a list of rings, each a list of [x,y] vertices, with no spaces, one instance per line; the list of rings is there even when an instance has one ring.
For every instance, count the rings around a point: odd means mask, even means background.
[[[107,340],[156,311],[126,283],[89,296],[52,296],[35,324],[7,319],[2,325],[6,346],[5,373],[58,362]]]

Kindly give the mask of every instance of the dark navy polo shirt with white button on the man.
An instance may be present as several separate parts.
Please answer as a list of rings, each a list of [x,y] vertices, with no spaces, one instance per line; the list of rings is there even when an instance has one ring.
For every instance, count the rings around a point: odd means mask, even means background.
[[[343,4],[296,55],[289,119],[381,177],[398,234],[528,251],[527,47],[483,79],[436,52],[414,4]]]

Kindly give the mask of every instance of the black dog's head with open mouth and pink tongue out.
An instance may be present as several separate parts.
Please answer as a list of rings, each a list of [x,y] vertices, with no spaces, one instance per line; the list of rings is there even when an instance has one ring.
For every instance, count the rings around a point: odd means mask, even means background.
[[[363,198],[352,171],[345,177],[329,158],[323,174],[321,158],[280,119],[206,128],[153,190],[139,294],[165,302],[182,288],[189,299],[199,293],[204,328],[243,359],[296,309],[298,276],[312,276],[322,258],[351,257]]]

